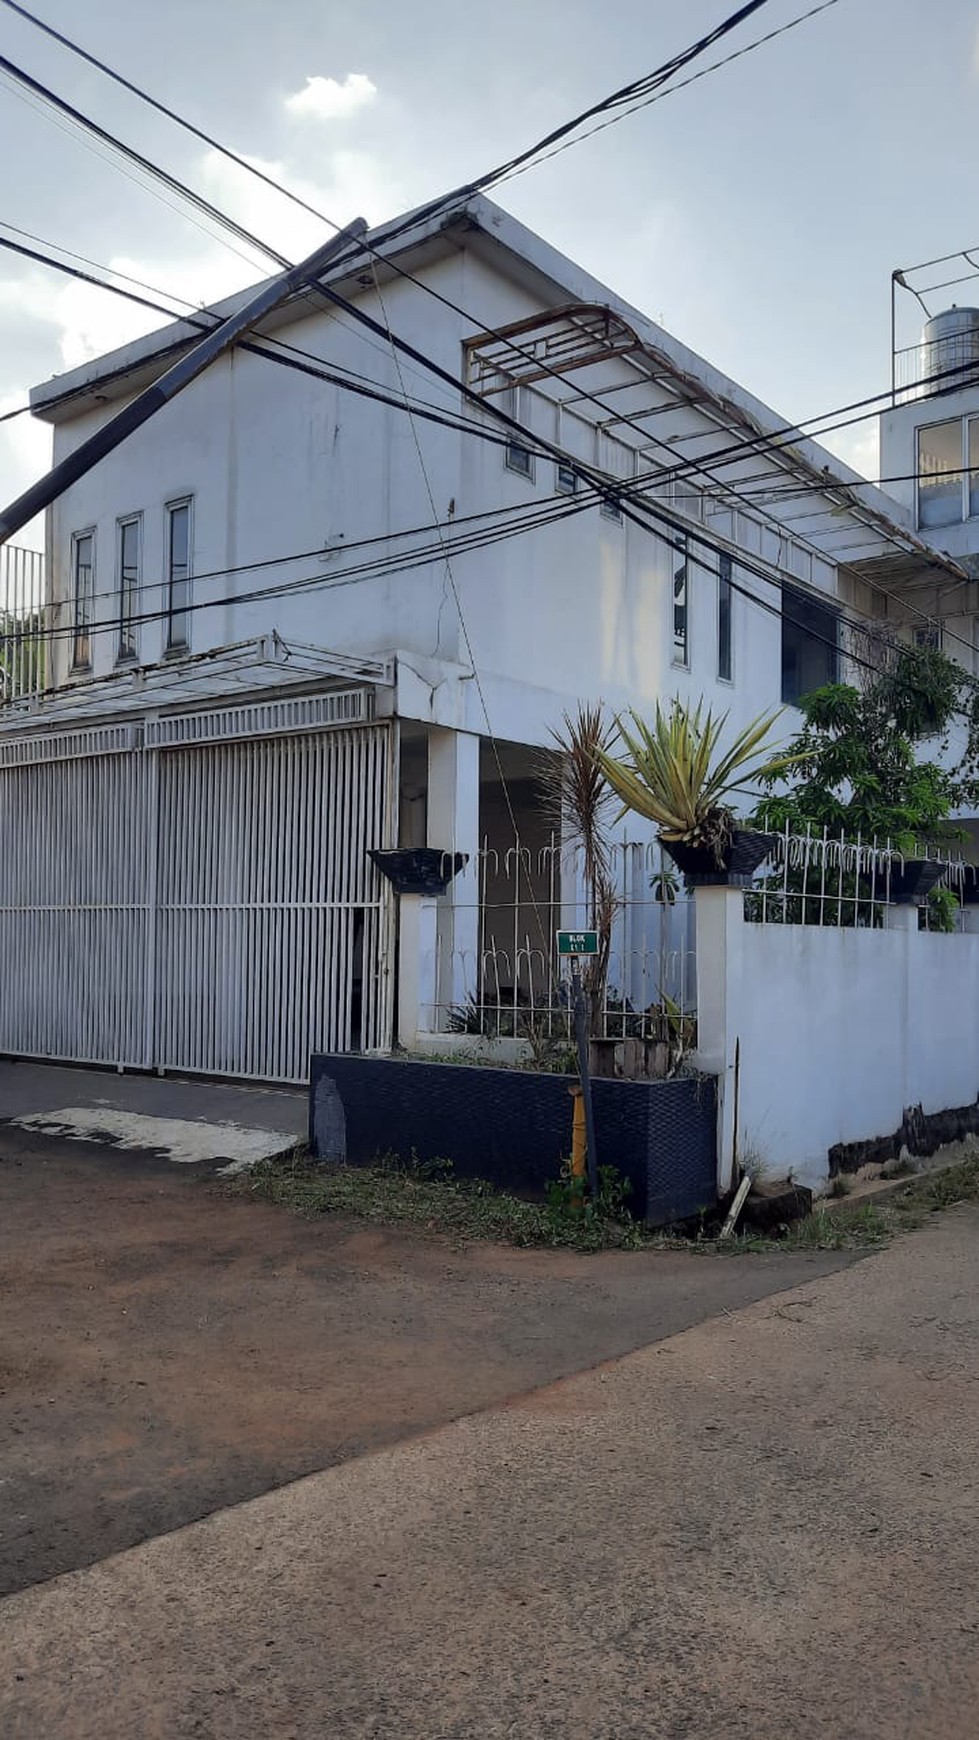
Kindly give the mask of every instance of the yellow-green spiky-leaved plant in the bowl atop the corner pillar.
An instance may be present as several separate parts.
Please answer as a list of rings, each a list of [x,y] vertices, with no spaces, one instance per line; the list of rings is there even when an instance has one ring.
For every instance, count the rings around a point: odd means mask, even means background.
[[[779,712],[762,713],[723,753],[720,738],[727,713],[704,713],[703,701],[696,708],[680,698],[666,708],[657,701],[652,726],[635,710],[628,719],[629,724],[616,720],[626,753],[596,752],[623,811],[633,809],[656,821],[664,846],[704,847],[720,867],[736,828],[727,799],[789,766],[791,757],[772,757],[769,743]]]

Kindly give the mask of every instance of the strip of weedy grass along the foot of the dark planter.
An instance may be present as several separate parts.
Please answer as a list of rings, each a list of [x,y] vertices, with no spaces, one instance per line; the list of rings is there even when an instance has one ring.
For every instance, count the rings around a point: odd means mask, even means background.
[[[350,1215],[377,1227],[414,1228],[471,1244],[480,1239],[515,1246],[577,1251],[701,1251],[739,1256],[774,1251],[868,1251],[920,1227],[929,1215],[979,1201],[979,1155],[944,1171],[922,1173],[882,1202],[816,1209],[783,1237],[744,1234],[723,1244],[708,1235],[654,1232],[626,1213],[572,1211],[555,1202],[525,1202],[478,1178],[454,1178],[450,1162],[400,1161],[376,1166],[322,1166],[301,1150],[263,1161],[230,1180],[236,1195],[259,1197],[297,1215]]]

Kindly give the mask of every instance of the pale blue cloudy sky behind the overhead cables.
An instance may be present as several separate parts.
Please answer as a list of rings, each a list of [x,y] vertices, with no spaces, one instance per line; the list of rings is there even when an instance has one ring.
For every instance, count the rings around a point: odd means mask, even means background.
[[[341,224],[356,214],[381,223],[509,158],[734,9],[734,0],[617,0],[607,10],[595,0],[26,3]],[[697,64],[812,3],[769,0]],[[289,258],[329,238],[3,5],[0,54]],[[494,198],[796,421],[889,385],[890,273],[979,244],[977,157],[979,0],[836,0]],[[268,271],[24,99],[2,71],[0,162],[3,224],[169,296],[203,303]],[[33,383],[158,324],[0,252],[0,412]],[[908,343],[915,327],[916,315]],[[876,475],[873,421],[826,444]],[[43,473],[49,449],[43,425],[0,425],[0,508]],[[40,527],[19,541],[40,545]]]

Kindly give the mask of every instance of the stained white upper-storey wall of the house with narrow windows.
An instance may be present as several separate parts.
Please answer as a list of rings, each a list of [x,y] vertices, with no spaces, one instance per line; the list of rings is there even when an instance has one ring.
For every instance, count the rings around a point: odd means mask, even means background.
[[[539,282],[532,291],[516,275],[504,275],[499,261],[492,266],[475,251],[454,252],[423,270],[435,287],[487,325],[518,320],[541,306]],[[374,291],[363,291],[362,301],[377,318],[386,311],[395,331],[435,355],[454,376],[461,374],[463,339],[470,332],[461,317],[403,280],[384,291],[384,310]],[[398,376],[383,341],[363,334],[344,315],[306,313],[292,325],[276,329],[276,338],[398,392]],[[449,386],[414,364],[403,362],[403,371],[412,393],[480,418]],[[570,388],[565,379],[563,390],[579,390],[579,379],[569,379]],[[596,390],[602,393],[603,388],[598,385]],[[652,392],[645,381],[647,404]],[[117,409],[118,400],[104,411],[61,423],[56,428],[56,459]],[[483,416],[487,426],[499,428],[489,412]],[[588,416],[595,419],[600,412],[588,409]],[[543,435],[553,438],[553,404],[543,390],[530,400],[530,418]],[[555,491],[549,461],[537,461],[530,484],[506,470],[501,447],[423,421],[416,423],[416,430],[438,519],[461,520],[471,513],[530,506]],[[706,445],[716,445],[716,423],[696,409],[673,409],[669,438],[683,438],[696,430]],[[565,435],[567,425],[562,438]],[[574,438],[574,433],[569,435],[572,445]],[[595,440],[593,423],[577,430],[577,440],[584,447]],[[692,449],[687,444],[683,451]],[[583,451],[583,458],[595,454]],[[744,463],[751,468],[756,461],[749,458]],[[729,475],[736,482],[737,470]],[[391,578],[329,585],[330,572],[351,560],[344,550],[358,538],[433,519],[412,428],[400,411],[365,402],[245,351],[219,360],[56,503],[50,512],[52,595],[70,595],[71,534],[94,527],[99,614],[104,619],[115,616],[117,600],[104,593],[117,585],[117,519],[141,512],[143,607],[160,607],[165,505],[184,494],[193,494],[195,503],[195,600],[233,599],[193,614],[193,652],[271,630],[285,640],[344,654],[396,652],[396,708],[402,717],[487,733],[442,562]],[[680,499],[675,512],[682,506]],[[789,546],[788,539],[779,541],[772,529],[760,527],[744,513],[720,513],[706,522],[706,529],[741,543],[755,560],[781,566],[789,579],[828,593],[836,588],[831,560],[812,559],[798,543]],[[793,532],[798,538],[798,527]],[[320,553],[273,569],[203,578],[289,552]],[[734,682],[718,682],[716,574],[697,567],[696,559],[689,600],[690,668],[673,666],[673,566],[675,553],[661,538],[628,522],[616,524],[596,508],[483,552],[454,557],[452,574],[492,733],[511,741],[544,743],[563,708],[581,696],[603,696],[614,708],[635,705],[642,710],[671,693],[703,694],[709,705],[732,710],[732,729],[762,708],[777,705],[777,614],[736,593]],[[311,578],[316,586],[266,600],[242,597],[257,586],[299,578]],[[777,607],[777,586],[737,569],[736,581],[749,585]],[[61,611],[61,626],[70,625],[70,607]],[[143,661],[163,656],[162,621],[143,625],[139,647]],[[96,637],[96,675],[111,672],[115,651],[111,633]],[[68,677],[68,658],[70,642],[63,640],[59,680]]]

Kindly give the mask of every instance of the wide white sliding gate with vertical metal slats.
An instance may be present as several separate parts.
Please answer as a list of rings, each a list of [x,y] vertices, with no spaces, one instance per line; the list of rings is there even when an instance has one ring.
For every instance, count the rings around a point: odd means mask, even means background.
[[[303,1081],[390,1044],[391,734],[315,699],[0,743],[0,1053]]]

